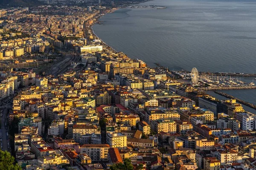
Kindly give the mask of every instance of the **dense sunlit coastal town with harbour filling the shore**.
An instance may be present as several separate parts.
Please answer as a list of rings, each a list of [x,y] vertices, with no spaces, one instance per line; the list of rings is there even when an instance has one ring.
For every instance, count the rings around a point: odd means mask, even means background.
[[[0,10],[0,149],[22,170],[256,170],[256,106],[207,94],[255,75],[148,67],[94,34],[118,8]]]

